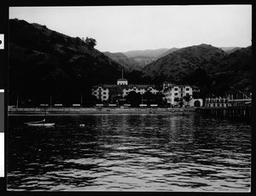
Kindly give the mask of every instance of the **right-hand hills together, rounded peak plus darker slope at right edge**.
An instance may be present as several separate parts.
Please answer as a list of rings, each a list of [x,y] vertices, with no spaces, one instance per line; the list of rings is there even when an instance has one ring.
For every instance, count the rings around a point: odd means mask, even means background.
[[[211,45],[178,49],[143,68],[143,76],[160,84],[196,84],[215,93],[252,89],[252,47],[226,53]]]

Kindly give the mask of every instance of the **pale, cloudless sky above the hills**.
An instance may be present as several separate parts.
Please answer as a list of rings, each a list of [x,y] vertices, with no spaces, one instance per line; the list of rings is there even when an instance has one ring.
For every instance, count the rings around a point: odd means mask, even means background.
[[[102,52],[252,44],[252,5],[10,7],[15,18],[93,37]]]

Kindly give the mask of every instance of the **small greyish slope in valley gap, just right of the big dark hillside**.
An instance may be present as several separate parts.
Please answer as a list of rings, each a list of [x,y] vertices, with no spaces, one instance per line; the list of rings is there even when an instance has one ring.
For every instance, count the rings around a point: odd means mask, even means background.
[[[136,61],[132,60],[131,58],[125,56],[122,53],[110,53],[110,52],[103,52],[104,55],[107,55],[113,61],[118,62],[121,66],[124,66],[127,71],[142,70],[142,67],[137,64]]]

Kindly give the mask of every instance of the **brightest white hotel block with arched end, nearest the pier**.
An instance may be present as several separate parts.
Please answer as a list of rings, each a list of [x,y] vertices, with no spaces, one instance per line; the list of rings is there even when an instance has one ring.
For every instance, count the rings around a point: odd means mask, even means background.
[[[190,101],[188,102],[189,107],[201,107],[203,104],[203,101],[201,99],[195,99],[192,97],[192,95],[195,92],[200,92],[200,89],[195,86],[190,85],[177,85],[165,82],[163,84],[163,95],[166,99],[167,103],[169,103],[172,106],[175,106],[178,104],[176,101],[176,98],[182,99],[186,95],[190,95]],[[183,101],[184,104],[186,104],[186,101]]]

